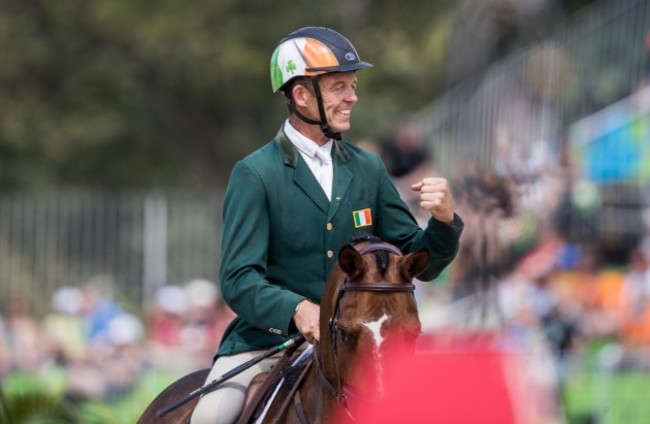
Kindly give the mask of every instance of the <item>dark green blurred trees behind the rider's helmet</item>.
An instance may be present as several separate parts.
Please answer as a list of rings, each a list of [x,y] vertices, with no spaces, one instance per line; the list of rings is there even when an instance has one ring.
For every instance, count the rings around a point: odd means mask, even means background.
[[[222,182],[277,131],[270,54],[305,25],[344,32],[376,64],[361,78],[355,134],[385,134],[435,93],[426,46],[444,37],[451,2],[416,2],[416,26],[393,18],[407,18],[393,2],[352,3],[0,3],[0,187]]]

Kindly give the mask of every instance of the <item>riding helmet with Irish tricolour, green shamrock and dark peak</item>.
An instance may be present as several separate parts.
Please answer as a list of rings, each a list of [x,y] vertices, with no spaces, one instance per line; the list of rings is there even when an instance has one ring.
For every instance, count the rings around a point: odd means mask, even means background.
[[[357,71],[372,65],[362,62],[350,41],[323,27],[306,27],[282,39],[271,56],[273,92],[300,76]]]

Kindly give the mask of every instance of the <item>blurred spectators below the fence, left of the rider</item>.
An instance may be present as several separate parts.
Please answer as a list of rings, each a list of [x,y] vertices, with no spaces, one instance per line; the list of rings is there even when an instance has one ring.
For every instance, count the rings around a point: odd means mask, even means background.
[[[65,395],[77,400],[121,396],[151,368],[183,375],[209,366],[233,317],[202,279],[160,287],[137,314],[92,285],[58,288],[40,320],[26,305],[14,300],[0,316],[0,381],[62,370]]]

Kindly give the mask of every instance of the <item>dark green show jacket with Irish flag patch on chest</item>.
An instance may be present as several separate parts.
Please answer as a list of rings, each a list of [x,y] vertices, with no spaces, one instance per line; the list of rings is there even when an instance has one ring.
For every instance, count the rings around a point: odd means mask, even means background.
[[[217,355],[268,349],[297,335],[293,313],[320,304],[338,251],[374,234],[404,253],[426,248],[429,281],[454,259],[463,221],[422,229],[378,155],[334,140],[332,200],[280,129],[232,170],[223,208],[220,284],[237,314]],[[356,219],[355,219],[356,218]]]

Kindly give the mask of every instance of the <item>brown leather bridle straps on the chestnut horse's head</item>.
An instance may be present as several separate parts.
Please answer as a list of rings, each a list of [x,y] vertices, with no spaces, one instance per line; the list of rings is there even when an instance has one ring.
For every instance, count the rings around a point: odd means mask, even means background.
[[[395,254],[397,256],[403,256],[402,252],[395,246],[388,244],[388,243],[371,243],[366,246],[363,246],[358,250],[359,254],[361,256],[371,253],[371,252],[377,252],[377,251],[385,251],[389,252],[392,254]],[[318,374],[320,375],[321,381],[325,388],[334,396],[336,399],[336,402],[345,409],[345,411],[348,413],[350,418],[354,419],[354,416],[350,412],[350,409],[348,407],[348,397],[353,396],[355,398],[360,398],[365,401],[373,401],[374,399],[369,399],[368,397],[363,396],[358,390],[356,390],[354,387],[350,386],[349,384],[346,384],[343,379],[341,378],[340,372],[339,372],[339,361],[338,361],[338,354],[337,354],[337,347],[336,347],[336,340],[337,340],[337,335],[340,332],[340,329],[338,327],[338,319],[339,319],[339,313],[340,313],[340,303],[341,300],[343,299],[343,296],[345,295],[346,292],[350,291],[363,291],[363,292],[411,292],[415,290],[415,285],[412,282],[409,282],[407,284],[396,284],[394,282],[388,282],[388,281],[373,281],[373,282],[365,282],[365,283],[352,283],[348,281],[348,277],[346,275],[345,280],[341,284],[341,287],[339,288],[339,293],[336,298],[336,304],[334,305],[334,314],[332,315],[332,318],[330,319],[329,322],[329,330],[330,330],[330,338],[331,338],[331,343],[332,343],[332,350],[334,351],[334,366],[336,369],[336,382],[335,384],[332,384],[332,382],[329,381],[325,373],[323,372],[323,367],[321,364],[320,359],[318,358],[318,355],[316,354],[316,351],[314,351],[314,361],[316,362],[316,365],[318,367]]]

